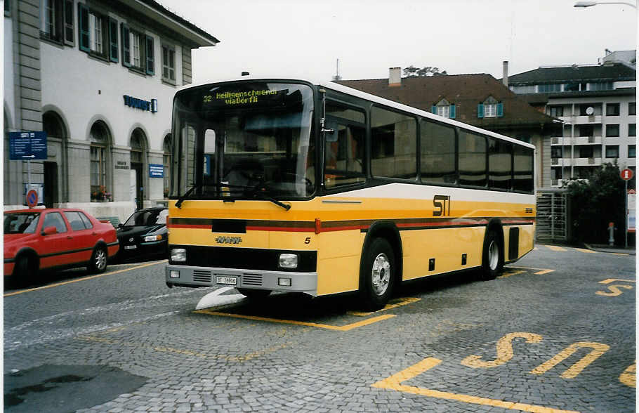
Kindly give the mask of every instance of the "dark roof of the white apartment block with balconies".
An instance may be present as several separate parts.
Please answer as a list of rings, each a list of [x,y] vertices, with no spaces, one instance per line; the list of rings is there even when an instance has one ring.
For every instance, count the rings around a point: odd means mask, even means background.
[[[605,65],[574,65],[572,67],[539,67],[508,77],[510,85],[562,83],[565,81],[627,81],[636,80],[634,69],[621,63]]]

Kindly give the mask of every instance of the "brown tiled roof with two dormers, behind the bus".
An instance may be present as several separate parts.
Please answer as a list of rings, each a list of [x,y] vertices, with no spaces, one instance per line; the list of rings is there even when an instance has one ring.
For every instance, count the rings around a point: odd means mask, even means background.
[[[336,82],[428,112],[433,105],[445,98],[449,103],[454,103],[456,120],[484,129],[541,126],[553,124],[554,121],[489,74],[407,77],[402,79],[400,86],[388,86],[388,79]],[[477,117],[477,105],[489,96],[503,103],[503,117]]]

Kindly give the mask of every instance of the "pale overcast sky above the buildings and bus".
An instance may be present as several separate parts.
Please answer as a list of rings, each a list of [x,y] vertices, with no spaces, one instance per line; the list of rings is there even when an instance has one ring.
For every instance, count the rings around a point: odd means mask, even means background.
[[[433,66],[501,78],[545,65],[595,64],[637,42],[630,6],[574,0],[158,0],[220,40],[193,53],[194,82],[258,76],[388,78]],[[602,0],[604,1],[604,0]],[[635,0],[626,0],[634,2]]]

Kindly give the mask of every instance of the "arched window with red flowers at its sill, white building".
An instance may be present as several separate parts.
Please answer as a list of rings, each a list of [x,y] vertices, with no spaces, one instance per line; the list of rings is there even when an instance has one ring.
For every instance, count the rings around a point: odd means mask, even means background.
[[[109,166],[110,138],[103,122],[95,122],[89,132],[91,140],[91,202],[112,201],[113,195],[107,182]]]

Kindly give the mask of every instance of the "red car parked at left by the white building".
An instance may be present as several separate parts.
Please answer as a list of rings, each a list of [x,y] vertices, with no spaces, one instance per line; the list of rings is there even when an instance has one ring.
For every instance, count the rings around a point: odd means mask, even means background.
[[[107,268],[119,248],[113,225],[80,209],[21,209],[4,213],[4,275],[20,282],[49,268]]]

